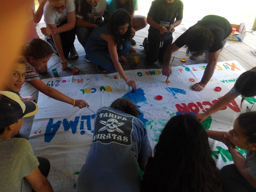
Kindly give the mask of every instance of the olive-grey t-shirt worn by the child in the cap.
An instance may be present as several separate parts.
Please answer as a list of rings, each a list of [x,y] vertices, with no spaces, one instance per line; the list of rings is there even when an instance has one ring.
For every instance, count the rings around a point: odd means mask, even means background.
[[[22,179],[39,163],[28,140],[0,138],[0,191],[20,192]]]

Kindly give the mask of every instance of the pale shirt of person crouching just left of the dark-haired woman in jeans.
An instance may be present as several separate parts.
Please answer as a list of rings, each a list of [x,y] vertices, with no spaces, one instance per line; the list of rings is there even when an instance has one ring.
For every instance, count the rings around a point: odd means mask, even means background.
[[[79,4],[79,6],[81,6],[81,4]],[[78,6],[78,10],[80,10],[79,6]],[[93,24],[99,24],[100,22],[102,22],[102,16],[104,15],[106,8],[107,8],[107,1],[99,0],[99,2],[97,3],[97,6],[92,7],[92,13],[88,13],[88,20],[86,21]],[[79,14],[77,14],[76,17],[83,19],[83,16]]]

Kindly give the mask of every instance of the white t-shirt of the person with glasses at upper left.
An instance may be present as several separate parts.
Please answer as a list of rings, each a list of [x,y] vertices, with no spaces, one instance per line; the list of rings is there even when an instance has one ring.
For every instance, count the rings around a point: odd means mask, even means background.
[[[52,6],[47,1],[44,5],[44,21],[46,24],[60,24],[63,20],[67,20],[67,13],[74,12],[76,10],[75,3],[73,0],[66,0],[65,10],[62,13],[58,13],[52,10]]]

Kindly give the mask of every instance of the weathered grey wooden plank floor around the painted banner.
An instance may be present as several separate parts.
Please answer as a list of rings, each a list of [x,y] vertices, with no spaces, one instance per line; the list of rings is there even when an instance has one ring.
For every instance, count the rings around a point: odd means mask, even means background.
[[[189,21],[182,21],[182,24],[175,28],[175,33],[173,33],[173,42],[175,39],[177,39],[186,29],[188,29],[189,26],[193,25],[193,22]],[[44,39],[44,35],[42,35],[40,28],[45,26],[44,22],[40,22],[36,28],[38,31],[38,35],[40,38]],[[134,67],[133,63],[133,57],[139,56],[140,57],[140,63],[136,65],[136,68],[162,68],[163,65],[159,63],[155,63],[154,65],[148,65],[147,61],[145,61],[145,51],[143,50],[143,47],[140,45],[142,44],[145,37],[148,35],[148,27],[144,29],[141,29],[140,31],[136,32],[136,36],[134,36],[134,40],[136,40],[136,45],[134,48],[136,49],[136,53],[128,53],[127,63],[123,65],[124,70],[131,70]],[[227,44],[225,45],[224,49],[221,51],[221,54],[218,58],[218,61],[231,61],[231,60],[237,60],[246,70],[249,70],[252,67],[256,67],[256,56],[252,54],[251,51],[255,52],[256,50],[253,49],[253,47],[256,46],[256,31],[248,31],[246,33],[246,36],[244,38],[243,42],[236,42],[232,40],[228,40]],[[48,62],[48,70],[45,74],[40,74],[41,79],[47,79],[54,77],[52,74],[52,69],[56,68],[58,70],[58,74],[62,77],[64,76],[72,76],[72,69],[77,68],[79,69],[78,75],[81,74],[98,74],[99,72],[96,69],[96,65],[93,63],[87,63],[84,60],[84,49],[79,44],[79,42],[75,41],[75,47],[77,49],[77,52],[79,53],[79,58],[77,60],[71,60],[68,59],[68,65],[70,67],[70,70],[62,71],[61,70],[61,63],[60,59],[56,54],[53,54],[51,59]],[[175,60],[173,62],[174,66],[177,65],[189,65],[189,64],[196,64],[196,63],[205,63],[204,56],[199,56],[196,58],[196,60],[192,61],[189,60],[189,57],[186,56],[186,48],[182,47],[179,49],[179,51],[174,52],[173,56],[175,56]],[[186,63],[182,63],[180,61],[180,58],[186,58]],[[24,86],[22,86],[22,90],[20,92],[21,96],[28,96],[32,95],[36,100],[38,97],[38,91],[35,90],[30,84],[25,83]],[[29,118],[26,120],[27,123],[30,122]],[[30,127],[30,126],[29,126]],[[26,132],[26,138],[28,138],[29,130]]]

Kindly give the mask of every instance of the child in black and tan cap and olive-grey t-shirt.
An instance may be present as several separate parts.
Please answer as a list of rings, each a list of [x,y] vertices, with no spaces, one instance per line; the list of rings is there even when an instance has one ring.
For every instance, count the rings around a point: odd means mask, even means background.
[[[20,130],[22,118],[35,115],[37,111],[35,102],[22,102],[16,93],[0,92],[1,191],[22,191],[27,181],[35,191],[53,191],[38,168],[38,160],[28,140],[12,139]]]

